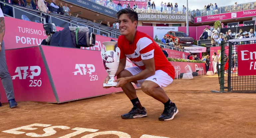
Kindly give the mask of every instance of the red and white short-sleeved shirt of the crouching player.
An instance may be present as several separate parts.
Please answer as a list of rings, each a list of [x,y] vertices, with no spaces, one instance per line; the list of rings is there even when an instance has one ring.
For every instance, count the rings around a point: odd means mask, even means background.
[[[136,31],[134,41],[129,44],[129,41],[124,35],[118,37],[117,46],[120,48],[120,59],[128,57],[133,64],[145,69],[142,60],[154,58],[155,69],[166,72],[173,79],[175,77],[175,69],[167,60],[159,45],[147,34]]]

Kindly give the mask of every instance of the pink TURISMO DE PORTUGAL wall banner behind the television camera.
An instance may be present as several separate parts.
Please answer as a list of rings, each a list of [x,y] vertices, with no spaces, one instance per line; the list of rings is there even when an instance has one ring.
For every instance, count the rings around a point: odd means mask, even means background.
[[[62,30],[56,27],[57,31]],[[43,24],[5,17],[5,49],[40,45],[47,38]]]

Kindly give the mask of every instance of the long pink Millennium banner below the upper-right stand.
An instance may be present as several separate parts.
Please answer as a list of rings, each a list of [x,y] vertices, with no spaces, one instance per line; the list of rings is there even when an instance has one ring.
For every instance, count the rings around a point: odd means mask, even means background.
[[[203,23],[203,22],[211,22],[211,21],[217,21],[217,20],[245,18],[245,17],[251,17],[251,16],[256,16],[256,9],[247,10],[247,11],[238,11],[238,12],[232,12],[232,13],[217,14],[217,15],[202,16],[202,17],[195,17],[194,23]]]

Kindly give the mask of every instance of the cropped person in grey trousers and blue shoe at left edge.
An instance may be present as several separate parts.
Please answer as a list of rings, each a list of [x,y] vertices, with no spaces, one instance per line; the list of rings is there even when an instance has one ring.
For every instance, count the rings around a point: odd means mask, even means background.
[[[2,9],[0,9],[0,26],[1,26],[1,29],[0,29],[0,78],[5,90],[7,100],[9,102],[9,106],[10,108],[14,108],[17,106],[17,103],[14,99],[12,78],[10,76],[10,73],[8,72],[7,65],[6,65],[6,57],[5,57],[5,49],[4,49],[4,41],[3,41],[4,34],[5,34],[5,23],[4,23],[4,14],[2,12]],[[0,106],[2,106],[1,102],[0,102]]]

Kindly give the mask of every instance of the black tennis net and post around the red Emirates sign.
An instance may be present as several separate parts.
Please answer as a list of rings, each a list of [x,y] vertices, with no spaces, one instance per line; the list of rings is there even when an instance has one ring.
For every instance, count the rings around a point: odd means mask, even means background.
[[[256,38],[232,39],[228,42],[221,42],[220,64],[217,66],[219,92],[256,93],[256,75],[238,76],[237,47],[246,46],[246,44],[256,44]]]

